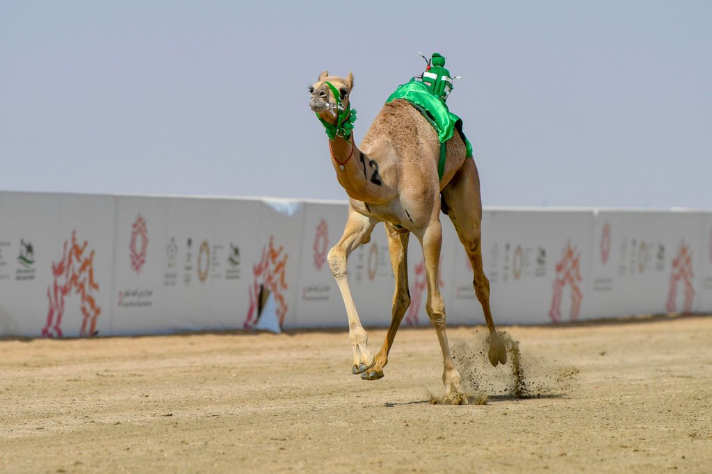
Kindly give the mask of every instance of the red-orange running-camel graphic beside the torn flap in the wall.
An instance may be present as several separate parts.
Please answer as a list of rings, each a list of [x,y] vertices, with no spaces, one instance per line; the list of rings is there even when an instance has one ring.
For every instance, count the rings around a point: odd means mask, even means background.
[[[284,317],[289,309],[286,302],[285,292],[288,290],[286,270],[288,253],[284,252],[284,247],[275,248],[274,236],[270,236],[269,245],[262,249],[262,257],[259,263],[253,265],[252,273],[254,281],[250,285],[250,306],[247,310],[245,329],[251,329],[257,324],[260,317],[258,307],[260,305],[260,295],[262,289],[266,288],[274,295],[277,305],[276,313],[279,318],[279,327],[284,323]]]

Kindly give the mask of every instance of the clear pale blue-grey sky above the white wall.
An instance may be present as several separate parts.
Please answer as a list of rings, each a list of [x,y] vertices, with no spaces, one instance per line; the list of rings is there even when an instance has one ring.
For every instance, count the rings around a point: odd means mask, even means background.
[[[360,140],[447,58],[490,206],[712,209],[712,1],[0,0],[0,190],[345,199],[307,87]]]

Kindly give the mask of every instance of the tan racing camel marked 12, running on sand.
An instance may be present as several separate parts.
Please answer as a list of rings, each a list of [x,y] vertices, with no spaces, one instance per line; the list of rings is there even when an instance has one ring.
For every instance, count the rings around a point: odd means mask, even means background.
[[[426,266],[426,311],[443,354],[442,376],[446,399],[465,397],[461,376],[454,366],[445,330],[445,305],[438,286],[442,242],[441,209],[454,224],[470,260],[473,288],[489,330],[488,359],[493,366],[506,363],[503,339],[496,331],[489,305],[489,281],[483,271],[480,224],[482,205],[477,167],[466,158],[466,145],[458,133],[446,142],[442,179],[438,174],[439,138],[430,123],[406,100],[388,102],[357,147],[351,133],[355,111],[350,108],[354,79],[324,71],[310,88],[310,108],[329,137],[336,179],[349,196],[347,222],[340,241],[330,249],[328,263],[346,307],[353,349],[353,374],[381,379],[400,322],[410,305],[407,248],[413,233],[421,243]],[[391,323],[379,352],[368,349],[347,280],[347,258],[368,243],[374,226],[386,228],[395,277]],[[465,397],[466,401],[466,397]]]

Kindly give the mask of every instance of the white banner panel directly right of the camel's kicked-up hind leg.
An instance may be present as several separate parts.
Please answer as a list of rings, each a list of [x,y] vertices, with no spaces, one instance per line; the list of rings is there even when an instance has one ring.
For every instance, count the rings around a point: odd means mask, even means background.
[[[575,321],[585,314],[592,226],[590,211],[484,212],[482,259],[496,324]],[[482,324],[469,262],[458,262],[450,314]]]

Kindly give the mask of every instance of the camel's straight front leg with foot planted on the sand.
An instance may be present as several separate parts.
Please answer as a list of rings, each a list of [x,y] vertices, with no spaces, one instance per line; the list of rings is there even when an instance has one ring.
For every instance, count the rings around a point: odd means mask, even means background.
[[[455,369],[455,364],[450,354],[450,346],[445,331],[445,303],[438,286],[440,249],[442,246],[442,228],[439,218],[434,218],[434,220],[428,224],[420,241],[423,246],[426,281],[428,283],[428,299],[425,304],[425,309],[438,335],[438,342],[440,343],[440,349],[443,353],[445,398],[449,400],[457,399],[467,403],[467,397],[460,384],[460,372]]]

